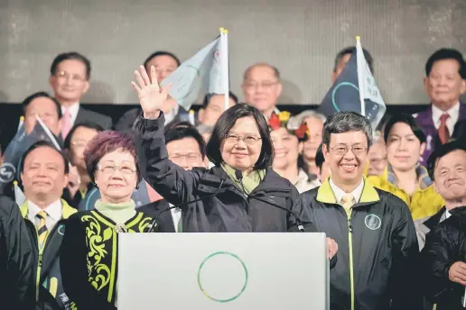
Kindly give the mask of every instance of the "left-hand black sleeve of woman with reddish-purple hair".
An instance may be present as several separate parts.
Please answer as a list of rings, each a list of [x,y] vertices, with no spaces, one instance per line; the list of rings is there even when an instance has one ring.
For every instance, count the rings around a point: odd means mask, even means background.
[[[86,232],[77,215],[65,222],[65,235],[61,242],[60,269],[63,290],[78,309],[116,310],[107,296],[99,294],[88,280],[88,247]]]

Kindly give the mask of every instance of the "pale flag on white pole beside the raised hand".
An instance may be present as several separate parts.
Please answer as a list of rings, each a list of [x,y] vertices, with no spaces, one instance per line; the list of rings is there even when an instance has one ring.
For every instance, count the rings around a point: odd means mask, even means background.
[[[224,40],[227,37],[222,33],[161,82],[161,86],[172,84],[170,96],[184,109],[190,110],[200,94],[228,96],[228,45]]]

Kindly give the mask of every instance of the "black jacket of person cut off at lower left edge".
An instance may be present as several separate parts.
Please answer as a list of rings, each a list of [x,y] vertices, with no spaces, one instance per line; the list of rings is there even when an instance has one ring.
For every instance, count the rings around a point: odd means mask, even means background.
[[[20,209],[0,196],[0,308],[33,309],[33,253]]]

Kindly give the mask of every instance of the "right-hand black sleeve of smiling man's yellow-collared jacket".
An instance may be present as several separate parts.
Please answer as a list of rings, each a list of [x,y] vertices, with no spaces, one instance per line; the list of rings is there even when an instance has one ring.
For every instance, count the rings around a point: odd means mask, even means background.
[[[423,309],[415,223],[407,205],[401,199],[390,196],[387,204],[393,206],[394,218],[391,233],[393,265],[389,279],[391,309]]]

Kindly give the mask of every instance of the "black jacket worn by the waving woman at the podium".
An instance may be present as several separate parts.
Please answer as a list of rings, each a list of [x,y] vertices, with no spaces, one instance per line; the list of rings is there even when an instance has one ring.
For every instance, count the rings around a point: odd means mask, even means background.
[[[140,117],[135,130],[138,166],[157,193],[172,205],[181,205],[183,232],[286,232],[293,229],[293,215],[245,196],[220,167],[186,171],[168,160],[163,123],[163,114],[156,120]],[[207,197],[218,190],[218,195]],[[307,231],[315,231],[304,217],[296,188],[272,169],[266,170],[266,177],[251,195],[293,210],[308,224]],[[206,198],[187,205],[202,197]]]

